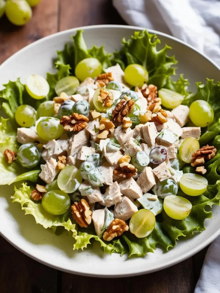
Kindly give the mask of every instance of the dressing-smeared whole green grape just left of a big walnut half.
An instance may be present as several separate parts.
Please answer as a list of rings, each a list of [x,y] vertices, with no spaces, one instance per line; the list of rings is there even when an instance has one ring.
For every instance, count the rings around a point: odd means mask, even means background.
[[[46,117],[41,119],[37,125],[37,134],[45,140],[57,139],[63,133],[63,127],[60,120],[55,117]]]

